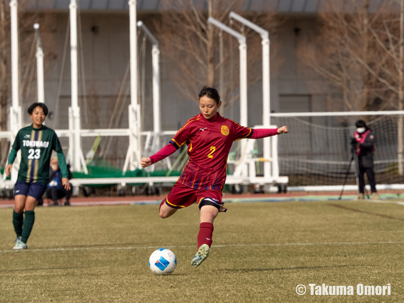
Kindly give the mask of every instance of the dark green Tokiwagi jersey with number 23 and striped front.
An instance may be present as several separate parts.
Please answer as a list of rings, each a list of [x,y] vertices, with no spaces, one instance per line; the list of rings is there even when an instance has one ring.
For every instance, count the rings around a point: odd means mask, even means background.
[[[21,128],[8,156],[8,164],[13,164],[19,149],[21,149],[21,162],[17,180],[47,184],[52,150],[57,153],[62,177],[67,178],[66,160],[55,130],[44,125],[41,128],[34,128],[32,124]]]

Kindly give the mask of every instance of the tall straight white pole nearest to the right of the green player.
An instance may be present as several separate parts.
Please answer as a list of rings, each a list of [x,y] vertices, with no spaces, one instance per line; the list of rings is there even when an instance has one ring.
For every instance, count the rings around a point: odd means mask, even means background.
[[[72,73],[72,118],[74,129],[72,168],[74,171],[81,170],[81,138],[80,138],[80,107],[78,106],[78,61],[77,61],[77,2],[70,0],[70,64]],[[72,144],[73,143],[73,144]]]

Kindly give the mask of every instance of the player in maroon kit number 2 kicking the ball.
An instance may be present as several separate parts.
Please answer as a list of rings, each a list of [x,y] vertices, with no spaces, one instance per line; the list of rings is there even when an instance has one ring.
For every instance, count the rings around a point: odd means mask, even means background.
[[[200,209],[198,251],[191,264],[198,267],[209,255],[212,244],[213,220],[223,208],[222,191],[226,181],[227,156],[233,141],[259,139],[288,133],[282,126],[274,129],[252,129],[223,118],[217,112],[221,106],[215,88],[205,86],[200,91],[199,108],[202,112],[189,119],[170,143],[141,164],[147,167],[173,154],[182,145],[188,145],[189,161],[170,194],[160,204],[160,217],[167,218],[179,208],[197,202]]]

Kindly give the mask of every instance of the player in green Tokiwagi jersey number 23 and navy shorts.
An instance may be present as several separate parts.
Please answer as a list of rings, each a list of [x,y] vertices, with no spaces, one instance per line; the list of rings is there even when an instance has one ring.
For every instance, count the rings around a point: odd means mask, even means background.
[[[63,186],[70,189],[66,160],[59,139],[55,130],[42,124],[48,114],[48,107],[44,103],[34,103],[28,108],[28,114],[32,124],[18,131],[6,167],[6,175],[9,176],[17,151],[21,149],[20,168],[14,187],[13,225],[17,239],[13,249],[27,248],[27,240],[35,221],[34,209],[49,182],[52,150],[57,153]]]

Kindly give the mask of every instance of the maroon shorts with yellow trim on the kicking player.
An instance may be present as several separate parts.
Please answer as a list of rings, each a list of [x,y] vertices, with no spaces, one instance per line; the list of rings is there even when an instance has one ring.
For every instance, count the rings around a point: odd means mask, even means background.
[[[194,202],[197,202],[199,208],[202,207],[201,202],[203,205],[213,205],[219,210],[220,207],[223,207],[221,191],[215,189],[193,189],[178,182],[175,183],[170,194],[163,201],[173,208],[184,208]]]

